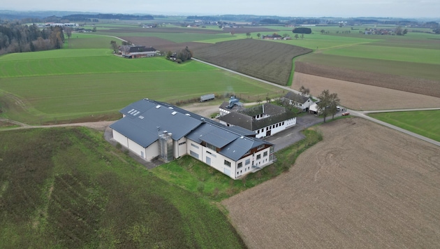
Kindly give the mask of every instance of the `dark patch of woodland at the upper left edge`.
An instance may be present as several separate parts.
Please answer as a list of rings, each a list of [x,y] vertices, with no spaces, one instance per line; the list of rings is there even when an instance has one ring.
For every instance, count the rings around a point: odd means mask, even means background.
[[[0,55],[58,49],[62,48],[63,43],[64,31],[59,26],[40,29],[36,24],[0,24]]]

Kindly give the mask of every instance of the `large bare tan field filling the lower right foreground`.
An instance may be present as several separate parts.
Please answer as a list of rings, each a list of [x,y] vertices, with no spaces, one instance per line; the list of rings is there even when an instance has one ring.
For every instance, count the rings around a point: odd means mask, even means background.
[[[329,122],[287,172],[222,202],[249,248],[438,248],[440,148]]]

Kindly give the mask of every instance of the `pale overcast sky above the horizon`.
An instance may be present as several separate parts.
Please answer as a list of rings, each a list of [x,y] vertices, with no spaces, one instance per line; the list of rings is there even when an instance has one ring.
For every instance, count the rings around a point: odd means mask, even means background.
[[[163,15],[440,17],[439,0],[6,0],[3,10],[71,10]]]

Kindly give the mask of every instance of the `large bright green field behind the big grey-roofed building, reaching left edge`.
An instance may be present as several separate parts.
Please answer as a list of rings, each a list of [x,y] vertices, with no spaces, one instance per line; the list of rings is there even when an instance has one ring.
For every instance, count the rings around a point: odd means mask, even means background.
[[[68,41],[68,49],[0,57],[1,116],[33,125],[111,120],[119,118],[122,107],[142,98],[179,104],[213,92],[256,101],[281,92],[198,62],[116,57],[105,48],[112,40],[78,34]],[[104,48],[96,48],[98,44]]]

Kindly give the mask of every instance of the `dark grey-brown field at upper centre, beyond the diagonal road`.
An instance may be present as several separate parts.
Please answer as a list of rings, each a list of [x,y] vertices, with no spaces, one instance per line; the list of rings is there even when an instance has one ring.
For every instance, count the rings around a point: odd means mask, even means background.
[[[286,85],[291,75],[293,57],[311,50],[273,41],[242,39],[216,43],[193,52],[193,57],[205,62]]]

